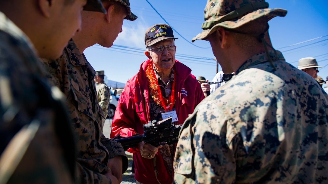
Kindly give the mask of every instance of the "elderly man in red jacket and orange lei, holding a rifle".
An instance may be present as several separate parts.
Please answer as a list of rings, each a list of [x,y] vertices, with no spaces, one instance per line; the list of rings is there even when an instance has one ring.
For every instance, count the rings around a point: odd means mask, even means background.
[[[140,70],[125,85],[115,111],[112,133],[129,137],[143,134],[143,124],[162,120],[168,112],[175,125],[182,124],[205,97],[191,69],[175,60],[173,30],[156,24],[146,30],[146,56]],[[173,183],[175,145],[152,146],[141,142],[133,153],[136,183]],[[154,172],[154,164],[157,175]],[[155,174],[156,173],[156,174]]]

